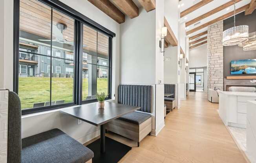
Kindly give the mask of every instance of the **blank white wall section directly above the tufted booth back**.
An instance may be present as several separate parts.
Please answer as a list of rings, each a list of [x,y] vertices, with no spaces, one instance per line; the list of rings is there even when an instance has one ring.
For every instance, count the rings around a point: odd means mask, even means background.
[[[139,10],[133,19],[126,16],[120,26],[120,82],[155,84],[155,10]]]

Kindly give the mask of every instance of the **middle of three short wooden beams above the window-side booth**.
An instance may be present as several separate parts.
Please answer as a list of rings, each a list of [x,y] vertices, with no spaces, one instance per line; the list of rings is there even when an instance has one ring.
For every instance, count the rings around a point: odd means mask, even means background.
[[[113,0],[113,3],[118,6],[129,18],[139,16],[139,8],[132,0]]]

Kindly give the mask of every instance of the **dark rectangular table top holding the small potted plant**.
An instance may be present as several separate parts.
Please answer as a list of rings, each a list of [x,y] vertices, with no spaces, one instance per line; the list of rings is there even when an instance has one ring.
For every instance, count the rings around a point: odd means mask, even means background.
[[[99,109],[98,103],[92,103],[89,105],[65,109],[61,112],[92,125],[100,126],[108,121],[119,118],[140,108],[141,107],[133,107],[120,103],[105,102],[104,109]]]

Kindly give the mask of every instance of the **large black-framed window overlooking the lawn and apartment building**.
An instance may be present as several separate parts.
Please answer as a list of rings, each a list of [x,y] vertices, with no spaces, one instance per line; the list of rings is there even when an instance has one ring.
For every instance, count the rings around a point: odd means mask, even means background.
[[[19,46],[14,54],[14,90],[22,114],[96,101],[97,92],[111,96],[110,52],[115,34],[54,3],[19,0],[15,9],[19,30],[14,38]]]

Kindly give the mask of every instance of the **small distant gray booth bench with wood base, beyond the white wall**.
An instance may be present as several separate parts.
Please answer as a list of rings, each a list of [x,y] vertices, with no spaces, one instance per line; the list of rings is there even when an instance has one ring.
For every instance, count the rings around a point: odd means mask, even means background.
[[[170,97],[165,97],[166,109],[172,110],[175,107],[175,84],[165,84],[165,94],[173,94]]]

